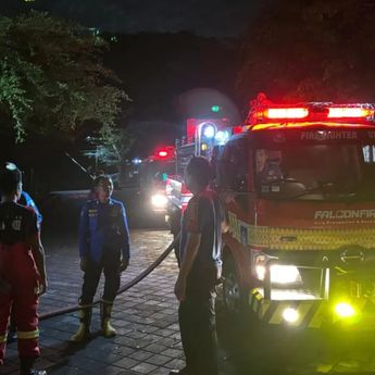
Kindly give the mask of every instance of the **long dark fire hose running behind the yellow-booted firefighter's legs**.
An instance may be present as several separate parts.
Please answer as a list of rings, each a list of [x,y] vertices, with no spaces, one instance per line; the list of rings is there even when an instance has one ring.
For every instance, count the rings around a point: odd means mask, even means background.
[[[174,249],[174,247],[178,243],[179,236],[180,235],[178,234],[175,237],[175,239],[173,240],[173,242],[145,271],[142,271],[138,276],[133,278],[130,282],[128,282],[125,285],[123,285],[118,289],[117,296],[123,293],[124,291],[130,289],[133,286],[135,286],[136,284],[141,282],[146,276],[148,276],[154,268],[157,268],[164,261],[164,259],[170,254],[170,252]],[[100,299],[98,298],[98,299],[96,299],[92,302],[92,304],[98,304],[99,302],[100,302]],[[50,311],[48,313],[41,314],[39,316],[39,321],[43,321],[43,320],[47,320],[47,318],[50,318],[50,317],[67,314],[67,313],[74,312],[74,311],[78,311],[79,309],[80,309],[79,305],[71,305],[71,307],[67,307],[67,308],[64,308],[64,309],[59,309],[59,310]]]

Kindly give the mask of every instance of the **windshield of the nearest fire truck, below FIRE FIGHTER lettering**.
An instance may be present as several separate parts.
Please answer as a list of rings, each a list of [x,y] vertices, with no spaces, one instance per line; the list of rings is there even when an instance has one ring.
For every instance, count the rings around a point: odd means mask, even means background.
[[[375,145],[261,148],[254,164],[255,188],[264,198],[375,200]]]

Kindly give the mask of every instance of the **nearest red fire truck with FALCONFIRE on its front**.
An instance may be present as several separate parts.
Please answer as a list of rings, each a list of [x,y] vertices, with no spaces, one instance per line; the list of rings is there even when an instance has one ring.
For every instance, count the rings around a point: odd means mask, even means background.
[[[211,148],[226,308],[271,325],[373,325],[374,105],[253,104]]]

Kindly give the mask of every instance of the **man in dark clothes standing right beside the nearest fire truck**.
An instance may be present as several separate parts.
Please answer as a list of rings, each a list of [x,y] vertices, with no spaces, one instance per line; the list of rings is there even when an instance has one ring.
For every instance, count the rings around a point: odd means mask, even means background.
[[[182,221],[178,321],[186,367],[170,374],[217,375],[215,297],[221,278],[223,210],[209,189],[213,173],[204,158],[192,158],[185,183],[193,193]]]

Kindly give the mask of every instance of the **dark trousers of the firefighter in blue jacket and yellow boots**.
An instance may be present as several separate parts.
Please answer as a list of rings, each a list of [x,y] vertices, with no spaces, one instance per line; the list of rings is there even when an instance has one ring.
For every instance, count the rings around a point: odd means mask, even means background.
[[[92,303],[101,273],[104,272],[104,292],[102,300],[113,302],[120,288],[120,250],[104,249],[99,263],[88,260],[79,304]]]

